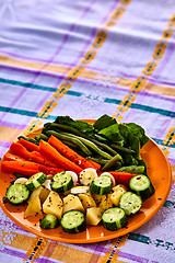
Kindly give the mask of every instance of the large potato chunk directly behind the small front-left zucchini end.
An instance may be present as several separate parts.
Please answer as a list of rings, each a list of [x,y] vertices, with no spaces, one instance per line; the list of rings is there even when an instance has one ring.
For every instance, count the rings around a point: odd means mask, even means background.
[[[58,219],[62,216],[62,201],[58,193],[50,191],[47,199],[43,204],[43,211],[45,214],[52,214]]]

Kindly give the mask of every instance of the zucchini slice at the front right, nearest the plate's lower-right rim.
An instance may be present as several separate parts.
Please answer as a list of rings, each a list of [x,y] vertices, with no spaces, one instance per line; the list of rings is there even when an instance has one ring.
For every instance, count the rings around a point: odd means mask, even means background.
[[[104,228],[110,231],[115,231],[117,229],[126,227],[128,220],[126,213],[122,208],[112,207],[103,213],[102,222]]]

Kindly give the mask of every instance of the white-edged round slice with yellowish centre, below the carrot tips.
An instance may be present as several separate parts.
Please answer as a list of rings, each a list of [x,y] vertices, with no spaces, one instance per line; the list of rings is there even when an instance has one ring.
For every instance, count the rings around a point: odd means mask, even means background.
[[[88,186],[92,183],[94,178],[97,178],[96,170],[86,168],[80,173],[80,183]]]

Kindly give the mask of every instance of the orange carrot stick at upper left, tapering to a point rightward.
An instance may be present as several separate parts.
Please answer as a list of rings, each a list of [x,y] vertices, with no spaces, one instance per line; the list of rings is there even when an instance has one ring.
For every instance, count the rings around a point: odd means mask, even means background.
[[[38,151],[28,151],[23,145],[20,142],[12,142],[10,146],[10,151],[13,155],[20,156],[27,161],[37,162],[44,165],[56,167],[52,162],[50,162],[46,157],[44,157]]]

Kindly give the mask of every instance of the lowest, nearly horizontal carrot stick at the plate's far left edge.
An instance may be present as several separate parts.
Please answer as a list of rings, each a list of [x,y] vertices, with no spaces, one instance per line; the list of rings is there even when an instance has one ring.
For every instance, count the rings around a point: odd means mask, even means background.
[[[26,178],[39,172],[38,163],[30,161],[2,161],[1,170],[5,173],[20,173]]]

